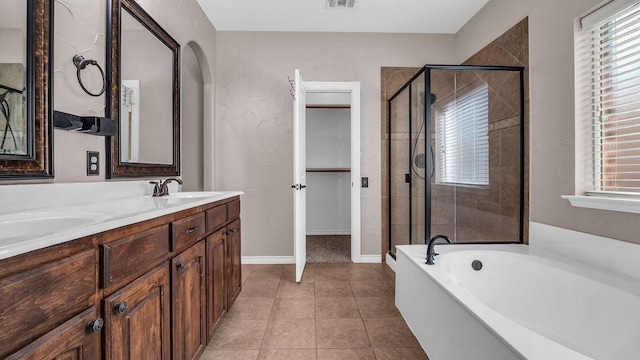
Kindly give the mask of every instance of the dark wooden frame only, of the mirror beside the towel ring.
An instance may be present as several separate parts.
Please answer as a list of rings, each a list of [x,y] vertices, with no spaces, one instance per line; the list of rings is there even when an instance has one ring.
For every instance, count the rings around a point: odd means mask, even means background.
[[[106,114],[120,123],[120,43],[121,13],[127,11],[173,53],[173,164],[143,164],[120,161],[119,136],[106,138],[107,178],[180,175],[180,44],[175,41],[135,0],[109,0],[107,5],[107,76]],[[152,65],[150,65],[152,66]],[[169,146],[170,144],[167,144]]]

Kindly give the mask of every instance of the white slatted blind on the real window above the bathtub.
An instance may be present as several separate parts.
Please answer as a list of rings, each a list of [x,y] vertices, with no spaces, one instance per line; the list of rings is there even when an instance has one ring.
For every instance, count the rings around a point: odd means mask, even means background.
[[[587,193],[640,193],[640,6],[629,3],[587,15],[576,37]]]

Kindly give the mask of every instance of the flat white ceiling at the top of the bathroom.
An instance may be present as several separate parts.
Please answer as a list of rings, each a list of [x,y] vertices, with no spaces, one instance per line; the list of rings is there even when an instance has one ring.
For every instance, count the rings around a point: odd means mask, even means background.
[[[218,31],[455,34],[489,0],[197,0]]]

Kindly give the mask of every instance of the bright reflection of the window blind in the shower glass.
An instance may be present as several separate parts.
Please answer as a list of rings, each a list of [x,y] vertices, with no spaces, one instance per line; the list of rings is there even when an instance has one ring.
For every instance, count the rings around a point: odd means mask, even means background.
[[[489,92],[486,83],[436,115],[436,181],[489,185]]]

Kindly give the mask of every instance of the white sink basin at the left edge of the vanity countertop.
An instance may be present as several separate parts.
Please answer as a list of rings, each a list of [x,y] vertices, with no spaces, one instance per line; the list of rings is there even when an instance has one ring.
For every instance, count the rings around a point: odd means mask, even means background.
[[[27,212],[0,216],[0,240],[48,235],[104,219],[102,212]]]

